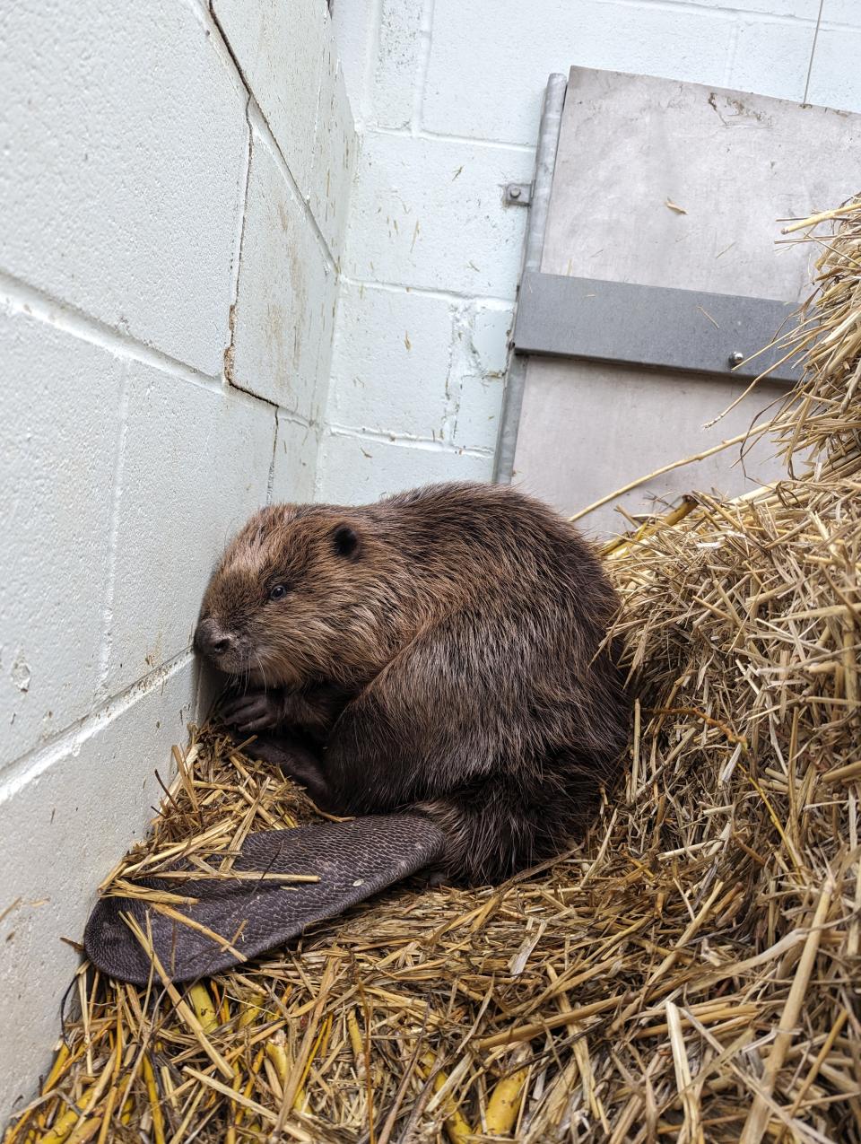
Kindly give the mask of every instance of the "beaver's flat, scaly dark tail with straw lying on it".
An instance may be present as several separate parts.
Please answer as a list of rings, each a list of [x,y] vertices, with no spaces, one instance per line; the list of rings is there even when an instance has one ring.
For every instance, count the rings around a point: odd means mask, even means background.
[[[146,948],[151,940],[165,976],[194,980],[284,945],[312,922],[433,865],[443,848],[443,832],[422,815],[262,831],[248,835],[233,860],[231,869],[241,877],[188,877],[199,867],[185,863],[135,882],[144,892],[194,898],[193,904],[168,899],[159,909],[145,898],[103,897],[87,922],[83,944],[102,972],[145,985],[151,976],[160,977]],[[214,856],[215,869],[220,860]],[[272,876],[279,874],[284,876]],[[290,874],[319,881],[289,881]]]

